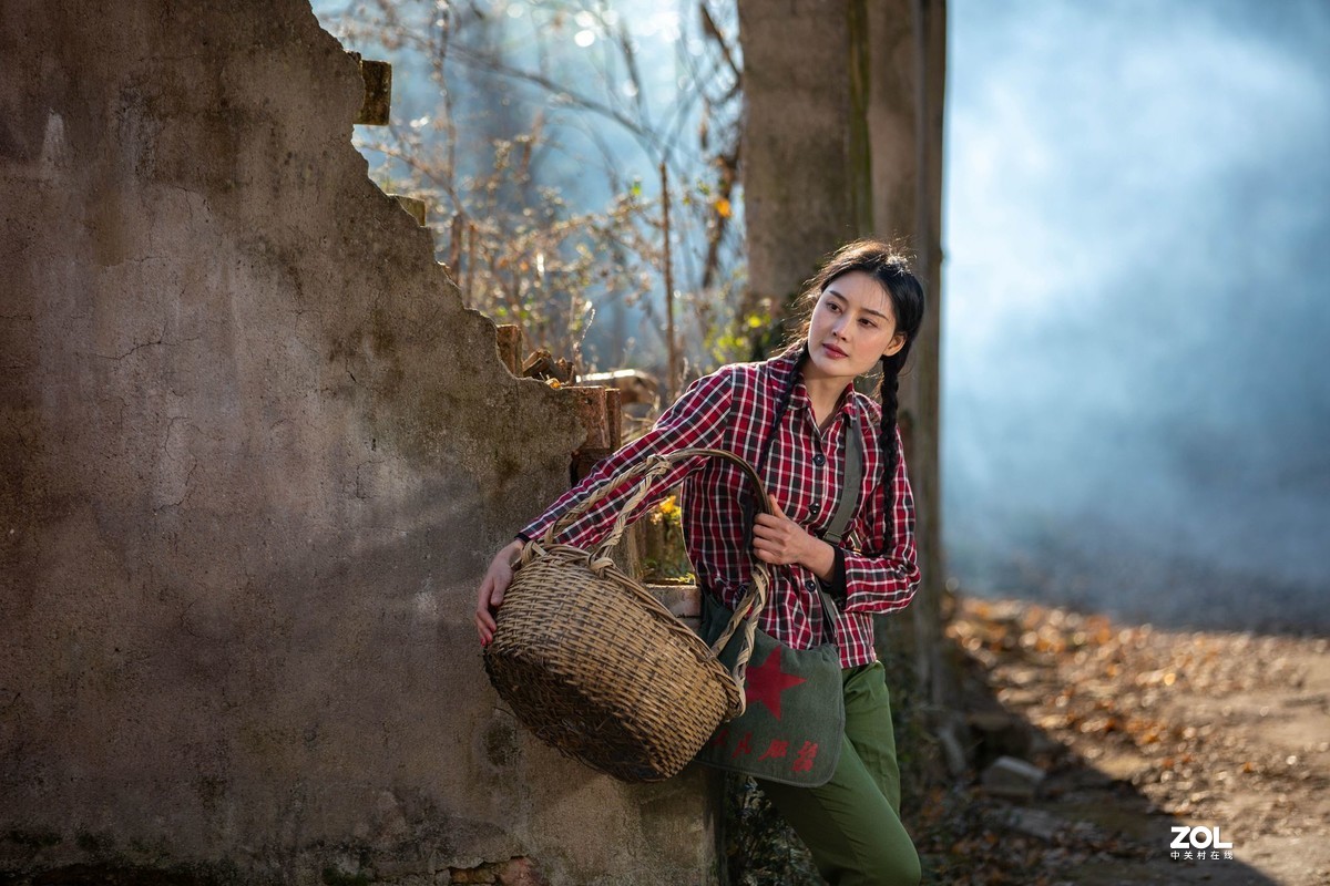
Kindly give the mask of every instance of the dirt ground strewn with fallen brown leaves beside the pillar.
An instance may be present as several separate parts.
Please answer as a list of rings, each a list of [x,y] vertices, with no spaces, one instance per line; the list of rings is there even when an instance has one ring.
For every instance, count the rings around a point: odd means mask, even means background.
[[[1043,778],[928,797],[928,882],[1330,885],[1330,639],[966,599],[948,634],[980,769],[1007,754]],[[1232,849],[1190,845],[1214,828]]]

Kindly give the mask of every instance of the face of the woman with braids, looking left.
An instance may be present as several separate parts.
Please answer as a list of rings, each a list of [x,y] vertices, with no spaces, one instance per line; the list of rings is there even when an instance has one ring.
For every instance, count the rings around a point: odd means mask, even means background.
[[[806,373],[854,379],[904,344],[891,296],[868,274],[850,271],[827,283],[813,308]]]

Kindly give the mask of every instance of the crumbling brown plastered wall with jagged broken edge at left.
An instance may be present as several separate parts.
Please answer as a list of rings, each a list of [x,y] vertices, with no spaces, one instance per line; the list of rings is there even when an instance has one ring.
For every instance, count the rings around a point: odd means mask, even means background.
[[[581,432],[351,147],[298,0],[0,13],[0,881],[710,882],[469,611]],[[61,879],[63,878],[63,879]]]

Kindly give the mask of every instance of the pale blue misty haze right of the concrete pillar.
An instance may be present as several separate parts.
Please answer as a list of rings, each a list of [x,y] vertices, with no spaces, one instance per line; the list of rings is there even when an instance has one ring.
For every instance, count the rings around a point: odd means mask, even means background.
[[[960,584],[1330,627],[1330,7],[950,5]]]

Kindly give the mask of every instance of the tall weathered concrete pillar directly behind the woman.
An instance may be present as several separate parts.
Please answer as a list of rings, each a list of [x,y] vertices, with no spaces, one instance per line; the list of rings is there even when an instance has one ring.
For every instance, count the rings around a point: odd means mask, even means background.
[[[928,288],[902,377],[900,424],[918,503],[924,586],[887,619],[938,696],[944,580],[938,477],[942,315],[942,0],[739,0],[749,278],[779,304],[857,236],[900,238]]]

